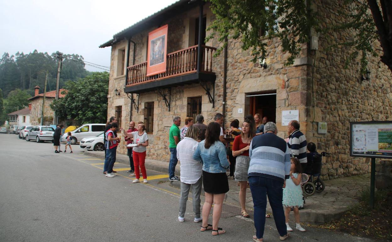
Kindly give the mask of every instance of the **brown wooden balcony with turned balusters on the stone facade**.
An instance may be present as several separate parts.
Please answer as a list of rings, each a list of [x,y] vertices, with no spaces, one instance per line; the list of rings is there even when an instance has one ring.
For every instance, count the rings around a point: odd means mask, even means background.
[[[194,45],[186,49],[181,49],[179,51],[168,54],[166,56],[166,71],[158,75],[146,75],[147,62],[127,67],[128,78],[125,91],[139,93],[140,91],[148,91],[147,89],[152,89],[155,87],[162,87],[168,85],[176,86],[177,83],[183,84],[183,82],[200,80],[200,78],[215,80],[216,76],[213,69],[214,65],[212,63],[212,55],[213,52],[216,51],[216,48],[206,45],[201,46],[203,48],[203,60],[201,62],[200,70],[197,69],[198,45]],[[170,79],[169,82],[158,82],[168,79]]]

